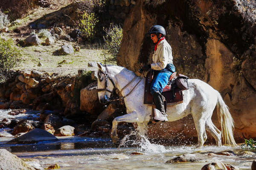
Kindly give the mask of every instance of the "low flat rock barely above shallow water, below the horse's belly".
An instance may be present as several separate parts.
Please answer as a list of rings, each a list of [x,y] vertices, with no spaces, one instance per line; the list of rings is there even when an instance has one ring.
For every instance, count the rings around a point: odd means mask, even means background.
[[[200,153],[185,153],[181,156],[177,156],[174,159],[170,159],[169,161],[166,161],[166,163],[175,163],[175,162],[198,162],[202,159],[205,159],[205,156],[203,156]]]

